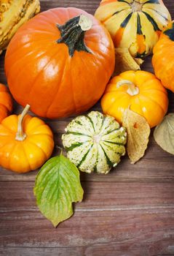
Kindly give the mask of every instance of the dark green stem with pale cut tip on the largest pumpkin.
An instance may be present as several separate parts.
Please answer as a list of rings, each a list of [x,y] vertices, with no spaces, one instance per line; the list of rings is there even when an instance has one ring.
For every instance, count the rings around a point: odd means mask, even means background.
[[[84,43],[84,33],[92,28],[92,20],[85,15],[79,15],[71,18],[65,24],[56,24],[60,30],[60,39],[58,43],[65,43],[68,46],[68,52],[71,57],[75,50],[91,53],[90,49]]]

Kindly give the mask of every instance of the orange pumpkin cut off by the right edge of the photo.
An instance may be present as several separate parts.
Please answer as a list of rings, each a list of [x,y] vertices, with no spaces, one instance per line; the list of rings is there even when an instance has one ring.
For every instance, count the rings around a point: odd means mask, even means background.
[[[152,65],[163,86],[174,92],[174,23],[169,24],[154,46]]]

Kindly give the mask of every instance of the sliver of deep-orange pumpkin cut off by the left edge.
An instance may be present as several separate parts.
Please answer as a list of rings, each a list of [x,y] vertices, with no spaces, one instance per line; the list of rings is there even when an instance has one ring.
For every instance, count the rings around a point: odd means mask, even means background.
[[[7,87],[0,83],[0,123],[12,112],[12,97]]]

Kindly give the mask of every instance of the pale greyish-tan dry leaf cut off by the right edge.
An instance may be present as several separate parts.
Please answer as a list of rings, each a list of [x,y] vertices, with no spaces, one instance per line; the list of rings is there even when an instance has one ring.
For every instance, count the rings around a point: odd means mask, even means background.
[[[154,129],[154,140],[163,150],[174,154],[174,113],[165,116]]]

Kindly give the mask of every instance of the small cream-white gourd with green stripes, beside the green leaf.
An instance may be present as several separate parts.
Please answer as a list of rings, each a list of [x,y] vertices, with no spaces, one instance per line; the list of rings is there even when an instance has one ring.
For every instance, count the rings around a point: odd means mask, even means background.
[[[92,111],[72,120],[62,139],[67,157],[79,170],[106,174],[125,154],[127,134],[113,117]]]

